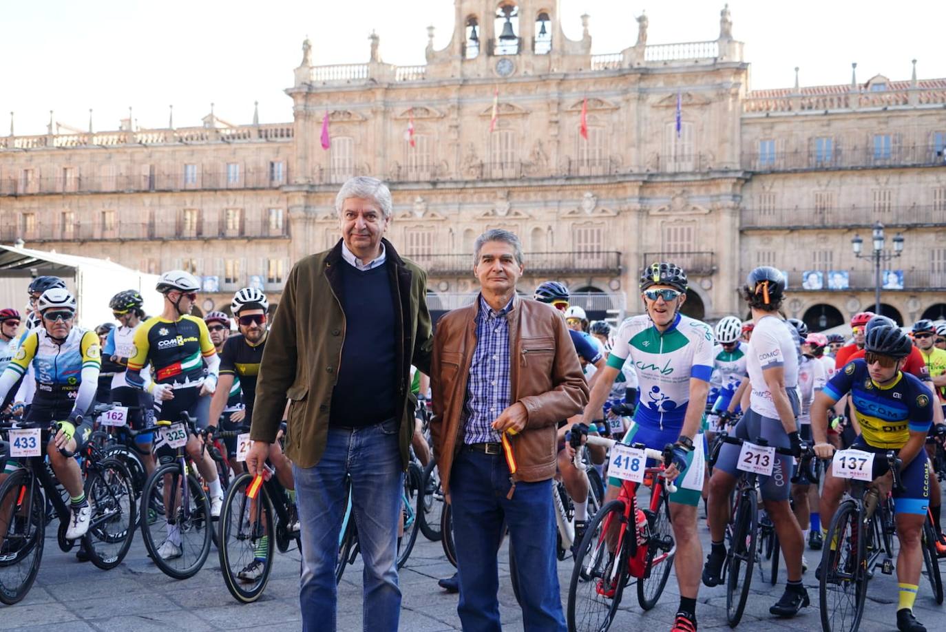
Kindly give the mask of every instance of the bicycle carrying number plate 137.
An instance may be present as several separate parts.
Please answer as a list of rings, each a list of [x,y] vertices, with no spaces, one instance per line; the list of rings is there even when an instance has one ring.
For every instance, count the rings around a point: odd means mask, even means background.
[[[893,450],[887,450],[885,459],[893,489],[902,491],[901,460]],[[893,516],[889,492],[882,501],[875,484],[850,482],[849,497],[834,512],[821,552],[818,596],[825,632],[855,632],[864,616],[867,581],[874,569],[880,566],[885,574],[893,573]]]

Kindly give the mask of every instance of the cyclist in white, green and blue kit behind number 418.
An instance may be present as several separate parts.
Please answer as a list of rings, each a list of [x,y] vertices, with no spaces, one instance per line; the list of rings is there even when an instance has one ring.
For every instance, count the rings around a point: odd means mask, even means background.
[[[696,533],[696,506],[704,478],[703,435],[698,433],[706,408],[712,374],[712,330],[709,325],[680,313],[687,297],[687,274],[668,262],[653,263],[640,273],[640,296],[646,313],[626,319],[618,328],[607,366],[598,372],[585,409],[590,424],[600,414],[611,384],[624,361],[633,359],[638,369],[639,404],[634,423],[623,443],[642,443],[663,449],[674,445],[674,461],[667,477],[678,478],[670,497],[676,556],[674,568],[680,591],[672,632],[696,630],[696,595],[700,558]],[[570,446],[569,446],[570,448]],[[609,479],[605,500],[618,497],[621,481]],[[613,587],[602,587],[613,595]]]

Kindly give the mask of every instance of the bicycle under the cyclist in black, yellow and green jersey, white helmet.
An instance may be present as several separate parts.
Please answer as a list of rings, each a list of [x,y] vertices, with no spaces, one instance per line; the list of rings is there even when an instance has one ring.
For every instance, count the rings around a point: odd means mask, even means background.
[[[175,579],[186,579],[201,570],[214,537],[210,500],[201,481],[192,473],[196,468],[189,463],[184,449],[188,437],[197,435],[196,422],[186,412],[181,413],[178,423],[167,420],[156,422],[160,438],[155,442],[155,449],[167,445],[176,451],[171,461],[159,465],[151,473],[142,491],[145,500],[141,503],[140,523],[145,548],[155,565]],[[149,523],[148,500],[152,498],[162,498],[164,501],[161,512]],[[166,515],[168,509],[170,517]],[[174,535],[180,538],[180,544],[170,540],[172,545],[180,548],[179,555],[164,559],[158,554],[163,543],[156,543],[155,535],[162,527],[167,533],[166,540]],[[178,561],[172,564],[174,560]]]

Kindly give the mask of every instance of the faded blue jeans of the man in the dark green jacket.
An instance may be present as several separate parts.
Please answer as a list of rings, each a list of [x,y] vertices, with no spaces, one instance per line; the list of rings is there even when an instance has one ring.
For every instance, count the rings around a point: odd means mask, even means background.
[[[398,420],[345,430],[329,428],[325,452],[313,467],[292,465],[302,527],[299,605],[304,632],[335,630],[335,563],[351,478],[352,518],[364,559],[364,629],[397,629],[397,525],[403,477]]]

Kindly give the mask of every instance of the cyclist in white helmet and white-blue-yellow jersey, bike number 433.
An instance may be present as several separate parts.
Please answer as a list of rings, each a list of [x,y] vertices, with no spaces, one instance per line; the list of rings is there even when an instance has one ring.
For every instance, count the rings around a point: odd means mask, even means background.
[[[79,452],[92,433],[92,419],[86,419],[85,414],[95,400],[101,350],[95,331],[74,325],[76,299],[68,290],[45,290],[36,301],[36,309],[43,316],[43,326],[26,334],[0,375],[0,399],[32,366],[36,395],[25,423],[43,430],[51,424],[57,428],[46,446],[46,455],[71,499],[65,537],[74,540],[89,530],[91,512],[82,489],[79,463],[64,456],[60,449]],[[16,462],[9,461],[5,472],[16,467]]]

